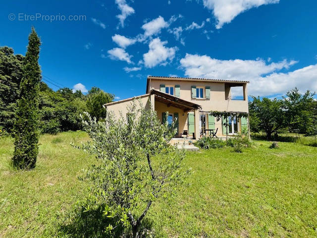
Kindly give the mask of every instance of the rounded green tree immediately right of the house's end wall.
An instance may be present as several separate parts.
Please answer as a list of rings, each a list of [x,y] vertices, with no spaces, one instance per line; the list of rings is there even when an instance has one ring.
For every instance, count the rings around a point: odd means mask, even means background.
[[[285,110],[282,100],[252,97],[249,102],[250,118],[257,123],[257,129],[264,131],[268,139],[272,134],[285,126]],[[252,124],[253,122],[251,122]],[[255,126],[253,124],[253,126]]]

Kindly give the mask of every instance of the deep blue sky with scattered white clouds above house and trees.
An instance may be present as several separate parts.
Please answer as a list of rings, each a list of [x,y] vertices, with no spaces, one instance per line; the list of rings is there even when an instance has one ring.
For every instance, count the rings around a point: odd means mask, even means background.
[[[147,75],[249,80],[249,95],[274,97],[317,91],[316,10],[316,0],[7,1],[0,46],[24,55],[33,25],[44,79],[116,99],[144,94]]]

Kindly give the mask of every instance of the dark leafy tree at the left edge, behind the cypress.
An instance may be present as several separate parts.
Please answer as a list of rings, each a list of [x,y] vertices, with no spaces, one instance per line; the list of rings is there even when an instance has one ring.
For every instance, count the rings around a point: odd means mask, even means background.
[[[14,123],[23,59],[21,55],[14,55],[13,49],[0,47],[0,127],[8,132]]]

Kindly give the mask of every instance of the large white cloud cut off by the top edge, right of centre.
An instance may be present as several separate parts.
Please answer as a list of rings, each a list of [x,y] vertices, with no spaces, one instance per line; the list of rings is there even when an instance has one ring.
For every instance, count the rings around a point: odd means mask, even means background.
[[[253,7],[278,3],[279,0],[203,0],[204,6],[212,10],[217,20],[216,28],[231,22],[237,15]]]

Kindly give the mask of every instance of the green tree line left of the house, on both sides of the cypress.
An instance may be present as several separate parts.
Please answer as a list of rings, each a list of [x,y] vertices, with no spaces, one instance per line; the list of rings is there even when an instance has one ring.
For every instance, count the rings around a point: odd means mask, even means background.
[[[25,57],[13,49],[0,47],[0,134],[11,133],[16,120]],[[53,91],[45,82],[39,86],[39,129],[42,133],[78,130],[82,128],[80,114],[89,112],[97,119],[104,118],[103,104],[112,102],[114,95],[93,87],[87,95],[70,88]]]

